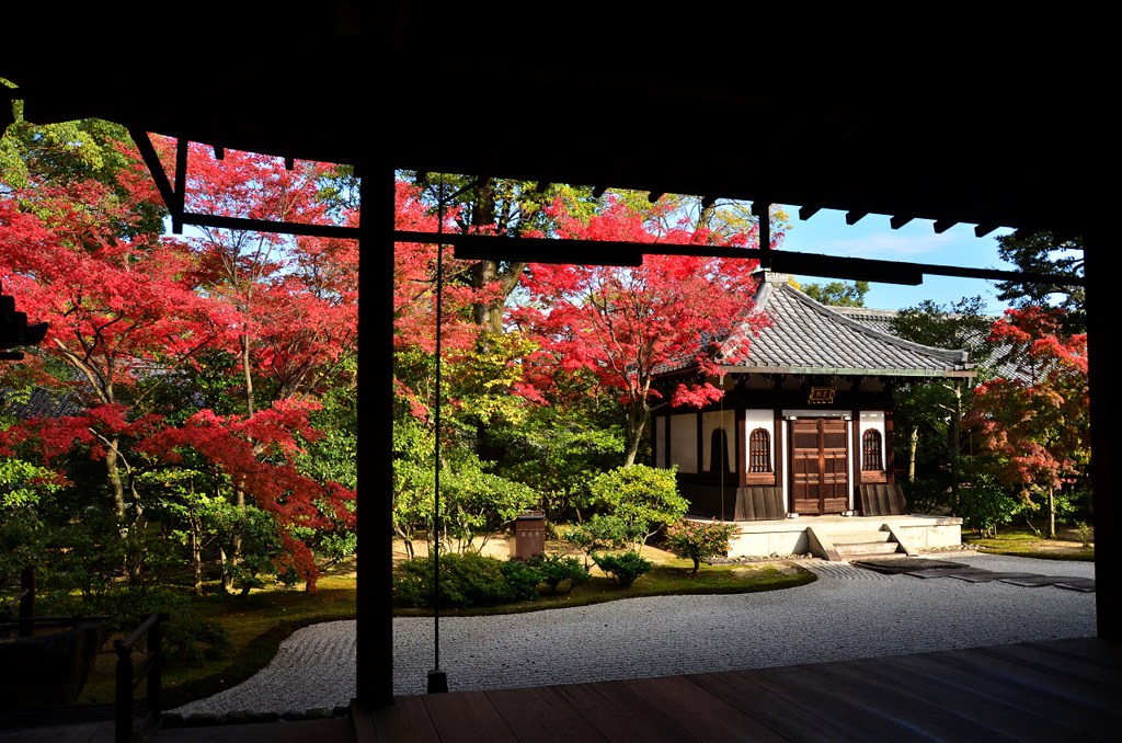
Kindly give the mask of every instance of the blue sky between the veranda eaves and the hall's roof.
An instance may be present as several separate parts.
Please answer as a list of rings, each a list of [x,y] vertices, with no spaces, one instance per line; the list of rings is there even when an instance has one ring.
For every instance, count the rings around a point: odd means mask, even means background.
[[[997,258],[996,240],[999,235],[1012,232],[1011,229],[997,229],[977,238],[974,237],[973,224],[956,224],[936,235],[930,220],[916,219],[894,230],[884,214],[867,214],[850,227],[845,223],[843,211],[822,209],[802,221],[798,207],[784,209],[791,220],[791,229],[783,240],[784,250],[972,268],[1012,268]],[[836,279],[797,275],[794,281],[802,284]],[[996,300],[997,290],[991,282],[945,276],[925,276],[919,286],[870,284],[865,306],[899,310],[923,300],[948,304],[975,295],[981,295],[986,302],[990,314],[1001,314],[1006,306]]]

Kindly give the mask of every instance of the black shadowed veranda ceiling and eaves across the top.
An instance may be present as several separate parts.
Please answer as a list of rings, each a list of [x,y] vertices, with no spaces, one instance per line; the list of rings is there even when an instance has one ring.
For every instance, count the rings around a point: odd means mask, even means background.
[[[48,22],[20,8],[6,20],[27,49],[0,75],[31,121],[99,116],[364,172],[1080,231],[1104,202],[1104,24],[1017,3],[898,10],[171,2]]]

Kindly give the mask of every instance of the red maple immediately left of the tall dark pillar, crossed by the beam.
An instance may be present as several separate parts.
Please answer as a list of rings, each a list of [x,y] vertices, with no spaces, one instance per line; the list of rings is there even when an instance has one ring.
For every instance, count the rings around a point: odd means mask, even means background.
[[[156,138],[169,177],[174,140]],[[187,211],[265,221],[357,223],[357,214],[332,214],[319,199],[328,166],[192,144],[187,154]],[[138,189],[150,189],[141,177]],[[239,313],[232,333],[246,412],[320,388],[353,358],[358,341],[358,247],[352,240],[289,237],[275,232],[199,228],[187,245],[193,281],[208,296]],[[264,391],[260,388],[264,385]]]

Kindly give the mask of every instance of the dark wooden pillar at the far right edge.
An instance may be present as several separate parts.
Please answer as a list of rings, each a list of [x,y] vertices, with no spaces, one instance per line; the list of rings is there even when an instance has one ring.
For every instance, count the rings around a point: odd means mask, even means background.
[[[1098,211],[1097,214],[1109,212]],[[1100,217],[1100,219],[1104,219]],[[1107,264],[1105,230],[1083,233],[1084,273],[1087,277],[1087,378],[1091,389],[1091,487],[1095,523],[1095,602],[1098,636],[1122,640],[1122,554],[1114,549],[1119,510],[1111,492],[1111,423],[1118,420],[1116,395],[1111,389],[1110,347],[1115,312],[1113,275]]]

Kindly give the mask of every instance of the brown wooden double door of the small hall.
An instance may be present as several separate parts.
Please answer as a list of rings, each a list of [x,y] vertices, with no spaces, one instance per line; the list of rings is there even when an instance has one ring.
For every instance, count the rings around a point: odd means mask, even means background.
[[[849,506],[846,422],[836,418],[791,422],[791,511],[842,513]]]

